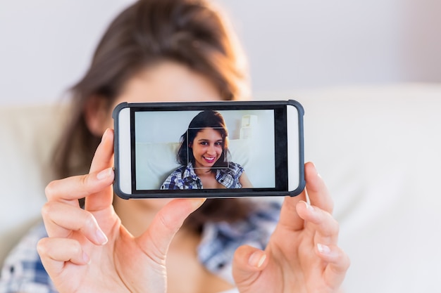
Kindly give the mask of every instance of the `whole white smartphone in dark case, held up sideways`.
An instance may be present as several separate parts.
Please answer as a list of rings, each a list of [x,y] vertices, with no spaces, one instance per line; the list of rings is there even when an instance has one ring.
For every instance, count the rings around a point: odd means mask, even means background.
[[[123,199],[298,195],[303,116],[295,100],[121,103],[114,191]]]

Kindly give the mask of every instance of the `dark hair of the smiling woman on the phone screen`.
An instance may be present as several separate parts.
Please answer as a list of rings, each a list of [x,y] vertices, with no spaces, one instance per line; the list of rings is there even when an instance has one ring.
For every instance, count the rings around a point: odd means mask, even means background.
[[[212,171],[215,171],[216,168],[228,167],[228,162],[230,160],[230,152],[228,150],[228,129],[221,113],[213,110],[202,111],[194,116],[188,125],[187,131],[185,131],[180,137],[180,147],[177,154],[178,163],[182,166],[187,166],[189,162],[192,162],[194,165],[194,155],[190,148],[190,144],[193,143],[194,138],[199,131],[205,128],[212,128],[218,131],[222,137],[223,151],[221,157],[219,157],[219,159],[213,164]]]

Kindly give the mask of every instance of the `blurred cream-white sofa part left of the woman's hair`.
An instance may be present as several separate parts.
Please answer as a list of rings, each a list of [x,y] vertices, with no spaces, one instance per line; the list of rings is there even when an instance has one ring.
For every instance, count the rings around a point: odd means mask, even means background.
[[[40,218],[59,114],[55,105],[0,107],[0,263]]]

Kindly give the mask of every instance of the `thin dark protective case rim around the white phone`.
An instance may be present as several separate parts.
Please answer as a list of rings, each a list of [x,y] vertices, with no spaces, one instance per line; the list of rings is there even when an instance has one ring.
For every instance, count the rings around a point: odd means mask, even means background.
[[[170,110],[176,110],[176,108],[185,108],[185,110],[201,110],[201,108],[209,107],[215,108],[216,110],[221,110],[221,108],[231,109],[237,108],[237,110],[247,107],[249,105],[262,107],[262,109],[271,105],[292,105],[297,108],[298,115],[298,127],[299,127],[299,185],[295,190],[259,190],[259,188],[246,188],[246,189],[225,189],[222,192],[221,189],[213,192],[213,189],[199,189],[199,190],[173,190],[170,192],[165,192],[161,190],[161,193],[137,193],[128,194],[124,193],[120,189],[120,176],[119,176],[119,154],[120,148],[118,145],[119,138],[119,118],[118,113],[124,108],[130,108],[135,106],[136,108],[161,108],[161,110],[170,108]],[[120,103],[116,106],[112,113],[115,136],[114,136],[114,169],[115,169],[115,180],[113,182],[113,190],[118,195],[125,200],[132,199],[144,199],[144,198],[185,198],[185,197],[207,197],[207,198],[228,198],[228,197],[263,197],[263,196],[296,196],[302,193],[305,187],[304,180],[304,108],[296,100],[250,100],[250,101],[213,101],[213,102],[166,102],[166,103]]]

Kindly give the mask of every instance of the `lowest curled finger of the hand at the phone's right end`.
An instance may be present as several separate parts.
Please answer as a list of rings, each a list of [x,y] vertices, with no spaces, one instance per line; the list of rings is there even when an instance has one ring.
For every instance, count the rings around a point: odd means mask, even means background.
[[[350,266],[349,256],[336,245],[316,245],[316,254],[323,261],[328,263],[324,271],[324,278],[331,287],[340,287],[344,275]]]

